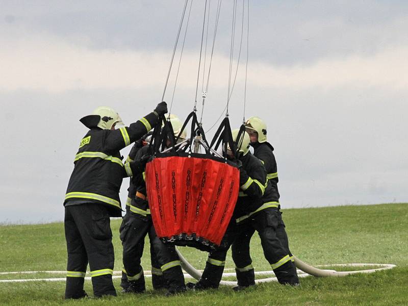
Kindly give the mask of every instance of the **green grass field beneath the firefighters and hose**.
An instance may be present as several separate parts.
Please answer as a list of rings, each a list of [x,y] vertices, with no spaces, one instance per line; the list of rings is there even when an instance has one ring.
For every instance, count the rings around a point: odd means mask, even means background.
[[[235,293],[230,287],[187,292],[165,297],[151,290],[140,295],[118,293],[116,298],[64,301],[64,282],[0,283],[1,305],[408,305],[408,204],[343,206],[283,210],[292,252],[312,265],[337,263],[396,264],[392,270],[346,277],[301,278],[301,288],[262,284]],[[115,270],[120,270],[120,220],[112,221],[116,254]],[[0,225],[0,272],[65,270],[66,249],[63,223]],[[202,269],[207,253],[181,248],[185,257]],[[251,243],[256,270],[270,270],[263,257],[258,236]],[[146,240],[142,259],[150,269]],[[231,257],[226,268],[233,268]],[[340,270],[340,269],[339,269]],[[64,277],[61,274],[0,275],[0,279]],[[186,279],[189,281],[189,279]],[[114,280],[120,291],[119,279]],[[91,294],[90,281],[85,284]]]

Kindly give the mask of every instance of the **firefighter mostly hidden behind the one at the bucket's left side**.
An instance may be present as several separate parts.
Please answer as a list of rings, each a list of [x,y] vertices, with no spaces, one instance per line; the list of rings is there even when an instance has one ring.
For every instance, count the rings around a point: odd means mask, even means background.
[[[148,134],[145,134],[141,139],[135,141],[135,144],[133,145],[131,151],[129,152],[129,156],[127,157],[126,162],[124,164],[125,169],[128,169],[128,171],[130,169],[129,168],[130,162],[133,162],[136,158],[137,151],[140,148],[142,148],[144,145],[148,144],[148,138],[151,137],[150,133],[151,132],[149,132]],[[129,175],[132,176],[132,173],[130,173]],[[127,191],[128,193],[127,193],[127,199],[126,199],[126,213],[123,216],[122,223],[119,227],[119,235],[122,233],[124,225],[126,224],[126,221],[129,219],[130,205],[132,202],[132,198],[136,194],[136,187],[133,184],[132,179],[130,180],[129,188],[127,189]],[[165,288],[166,283],[164,281],[163,273],[160,269],[160,264],[157,260],[156,253],[155,253],[155,250],[152,244],[150,244],[150,262],[151,262],[151,283],[153,285],[153,289],[159,290],[159,289]],[[123,288],[123,291],[126,291],[128,286],[129,286],[129,281],[127,280],[126,271],[123,268],[120,287]]]

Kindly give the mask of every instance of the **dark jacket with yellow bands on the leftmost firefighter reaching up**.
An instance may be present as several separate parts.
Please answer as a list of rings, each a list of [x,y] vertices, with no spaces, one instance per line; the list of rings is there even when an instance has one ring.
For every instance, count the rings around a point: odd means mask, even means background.
[[[146,134],[157,120],[158,116],[150,113],[118,130],[92,128],[75,156],[64,206],[96,202],[106,206],[111,217],[120,217],[120,185],[131,173],[123,166],[119,150]]]

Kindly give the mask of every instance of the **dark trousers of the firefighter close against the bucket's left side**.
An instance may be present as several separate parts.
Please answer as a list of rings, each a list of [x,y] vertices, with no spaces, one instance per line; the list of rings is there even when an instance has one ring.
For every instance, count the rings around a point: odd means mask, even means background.
[[[184,289],[184,275],[179,256],[172,245],[165,245],[157,237],[150,217],[129,216],[120,233],[123,246],[123,267],[127,279],[137,291],[145,290],[143,268],[144,238],[149,235],[150,245],[156,254],[158,269],[163,273],[168,290]],[[154,270],[154,269],[152,269]],[[159,270],[155,270],[159,274]]]

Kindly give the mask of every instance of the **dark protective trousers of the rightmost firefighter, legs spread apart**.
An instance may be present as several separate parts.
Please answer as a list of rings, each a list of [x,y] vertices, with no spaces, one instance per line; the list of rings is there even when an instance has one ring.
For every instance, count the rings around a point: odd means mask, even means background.
[[[278,282],[290,285],[299,283],[296,267],[290,258],[281,213],[273,208],[268,208],[253,215],[243,224],[237,225],[237,237],[232,245],[232,256],[236,265],[238,285],[246,287],[255,284],[249,254],[249,243],[255,231],[261,238],[264,256],[271,265]],[[281,240],[284,240],[285,237],[286,242],[283,243]]]

